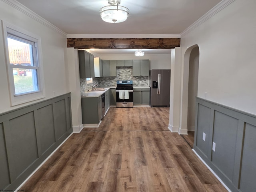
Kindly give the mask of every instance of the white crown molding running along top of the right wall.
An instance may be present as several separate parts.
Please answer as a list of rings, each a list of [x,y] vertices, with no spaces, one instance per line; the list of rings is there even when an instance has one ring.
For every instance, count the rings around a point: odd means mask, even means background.
[[[206,14],[204,14],[201,18],[199,18],[196,22],[194,22],[192,25],[190,25],[188,28],[186,28],[181,34],[180,37],[182,38],[198,26],[200,26],[202,23],[204,23],[206,20],[214,16],[216,13],[218,13],[220,10],[224,9],[226,6],[231,4],[235,0],[222,0],[219,2],[214,8],[212,8],[210,11],[208,11]]]

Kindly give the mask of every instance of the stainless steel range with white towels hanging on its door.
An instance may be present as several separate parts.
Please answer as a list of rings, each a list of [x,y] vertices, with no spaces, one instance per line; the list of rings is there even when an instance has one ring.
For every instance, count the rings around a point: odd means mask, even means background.
[[[116,81],[116,107],[133,107],[132,80]]]

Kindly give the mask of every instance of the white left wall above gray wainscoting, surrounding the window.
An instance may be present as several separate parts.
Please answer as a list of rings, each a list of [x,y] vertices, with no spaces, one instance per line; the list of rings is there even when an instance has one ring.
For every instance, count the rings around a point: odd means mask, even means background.
[[[66,78],[64,57],[66,53],[66,36],[41,24],[3,1],[0,1],[0,19],[41,37],[46,95],[46,97],[41,100],[67,93],[68,80]],[[2,24],[0,25],[0,36],[3,37]],[[37,100],[10,107],[5,58],[4,42],[3,38],[0,38],[0,113],[40,101]]]

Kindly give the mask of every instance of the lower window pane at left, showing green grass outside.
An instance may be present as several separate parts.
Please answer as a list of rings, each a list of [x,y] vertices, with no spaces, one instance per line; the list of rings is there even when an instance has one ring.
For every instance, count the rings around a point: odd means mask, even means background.
[[[37,70],[13,68],[15,94],[38,91]]]

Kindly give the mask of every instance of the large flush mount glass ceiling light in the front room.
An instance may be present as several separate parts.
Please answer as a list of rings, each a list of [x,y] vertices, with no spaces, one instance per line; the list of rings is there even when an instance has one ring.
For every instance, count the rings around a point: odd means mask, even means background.
[[[129,16],[129,9],[119,6],[121,0],[108,0],[108,6],[100,9],[102,20],[108,23],[124,22]]]

